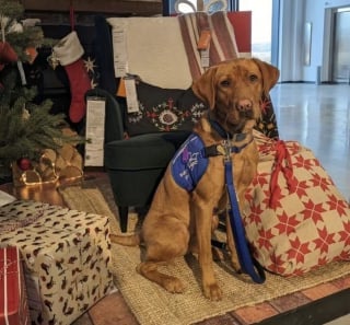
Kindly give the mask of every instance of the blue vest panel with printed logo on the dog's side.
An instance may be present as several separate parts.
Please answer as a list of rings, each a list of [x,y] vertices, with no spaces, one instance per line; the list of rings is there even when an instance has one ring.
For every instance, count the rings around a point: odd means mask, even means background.
[[[205,143],[192,134],[178,149],[172,160],[172,175],[176,184],[191,191],[208,167],[208,158],[203,155]]]

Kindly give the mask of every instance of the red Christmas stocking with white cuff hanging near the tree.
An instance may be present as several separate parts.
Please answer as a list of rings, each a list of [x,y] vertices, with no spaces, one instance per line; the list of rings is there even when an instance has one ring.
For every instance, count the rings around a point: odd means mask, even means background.
[[[84,95],[91,89],[91,80],[82,60],[83,54],[84,49],[74,31],[62,38],[52,53],[52,59],[57,59],[68,74],[71,93],[69,118],[72,123],[79,123],[85,116]]]

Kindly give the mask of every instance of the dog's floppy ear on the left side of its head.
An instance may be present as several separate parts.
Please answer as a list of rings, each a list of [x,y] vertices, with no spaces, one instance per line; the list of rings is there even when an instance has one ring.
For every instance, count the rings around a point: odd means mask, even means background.
[[[206,102],[210,109],[215,105],[215,72],[217,68],[211,67],[192,83],[195,95]]]

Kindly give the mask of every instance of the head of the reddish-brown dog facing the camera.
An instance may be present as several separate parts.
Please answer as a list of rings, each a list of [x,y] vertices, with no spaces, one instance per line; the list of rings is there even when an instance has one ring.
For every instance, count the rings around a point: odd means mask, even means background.
[[[247,124],[255,125],[261,98],[268,96],[278,78],[279,70],[259,59],[234,59],[209,68],[192,90],[223,128],[241,132]]]

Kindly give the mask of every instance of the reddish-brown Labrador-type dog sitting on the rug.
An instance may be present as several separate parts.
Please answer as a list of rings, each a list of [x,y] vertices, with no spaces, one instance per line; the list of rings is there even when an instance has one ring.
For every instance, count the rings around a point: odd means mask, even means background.
[[[174,179],[176,167],[172,162],[158,187],[141,232],[132,236],[112,237],[113,242],[126,245],[143,242],[145,258],[137,269],[167,291],[183,292],[184,285],[178,278],[160,272],[158,265],[196,249],[205,295],[211,300],[222,298],[213,272],[211,232],[213,211],[225,208],[226,202],[223,159],[229,147],[238,149],[238,152],[230,153],[230,158],[242,207],[244,193],[256,173],[258,162],[253,128],[260,115],[260,100],[262,95],[268,95],[278,78],[278,69],[266,62],[235,59],[209,68],[194,82],[195,94],[210,107],[194,128],[195,140],[199,136],[205,148],[209,148],[209,152],[214,151],[214,154],[209,154],[205,173],[190,190]],[[228,139],[229,147],[223,146]],[[188,151],[191,149],[183,148],[177,156],[187,156]],[[198,154],[189,153],[190,159],[186,165],[191,170],[197,165]],[[180,171],[182,177],[185,175],[183,181],[192,181],[188,173]],[[230,225],[226,228],[231,229]],[[228,233],[228,242],[230,249],[234,251],[231,231]],[[232,262],[235,262],[234,257]]]

